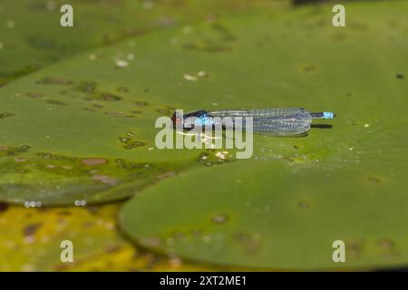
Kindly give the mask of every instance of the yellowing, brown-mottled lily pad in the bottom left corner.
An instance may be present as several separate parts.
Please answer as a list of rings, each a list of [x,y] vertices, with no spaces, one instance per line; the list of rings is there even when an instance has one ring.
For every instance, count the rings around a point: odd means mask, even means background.
[[[89,208],[21,208],[0,204],[0,271],[209,271],[135,247],[117,232],[118,204]],[[61,243],[73,243],[62,262]]]

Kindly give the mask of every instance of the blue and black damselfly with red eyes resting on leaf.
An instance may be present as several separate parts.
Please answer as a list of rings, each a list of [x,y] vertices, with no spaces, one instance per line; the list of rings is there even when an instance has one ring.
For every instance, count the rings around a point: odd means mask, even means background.
[[[309,131],[313,119],[333,119],[334,117],[335,113],[331,111],[309,112],[303,108],[273,108],[222,111],[199,110],[184,115],[179,115],[176,111],[171,120],[175,127],[186,130],[198,127],[216,128],[222,126],[223,128],[252,130],[277,136],[291,136]],[[248,125],[248,121],[252,122],[252,126]]]

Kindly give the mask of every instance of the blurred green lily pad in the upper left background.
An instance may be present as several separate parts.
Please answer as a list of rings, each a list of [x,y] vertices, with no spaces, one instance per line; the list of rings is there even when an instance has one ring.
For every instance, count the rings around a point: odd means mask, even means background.
[[[276,3],[277,2],[277,3]],[[0,85],[88,49],[158,28],[287,1],[73,0],[73,27],[60,25],[66,1],[3,0],[0,5]]]

